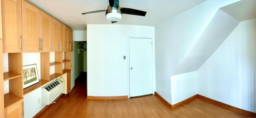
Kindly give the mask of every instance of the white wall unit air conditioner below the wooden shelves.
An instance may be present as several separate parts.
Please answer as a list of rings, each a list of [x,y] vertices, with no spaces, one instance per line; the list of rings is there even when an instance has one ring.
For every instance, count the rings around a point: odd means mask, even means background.
[[[54,100],[58,98],[60,94],[62,94],[64,88],[65,82],[62,78],[58,78],[57,80],[54,80],[50,84],[44,86],[42,88],[42,104],[49,105],[54,102]]]

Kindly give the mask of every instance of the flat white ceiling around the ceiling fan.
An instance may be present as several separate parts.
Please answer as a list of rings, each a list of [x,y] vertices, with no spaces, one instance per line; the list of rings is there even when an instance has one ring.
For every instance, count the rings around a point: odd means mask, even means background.
[[[45,12],[51,14],[72,30],[86,30],[86,24],[111,24],[104,12],[85,14],[94,10],[105,10],[108,0],[28,0]],[[119,0],[124,8],[146,11],[143,16],[123,14],[122,20],[115,24],[134,24],[156,26],[160,22],[184,12],[206,0]]]

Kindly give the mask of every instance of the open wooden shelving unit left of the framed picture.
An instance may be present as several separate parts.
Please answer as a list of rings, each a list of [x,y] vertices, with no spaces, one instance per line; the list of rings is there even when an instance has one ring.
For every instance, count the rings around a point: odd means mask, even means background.
[[[9,81],[9,92],[4,94],[5,114],[12,114],[10,111],[22,109],[20,102],[23,101],[22,83],[22,53],[8,53],[8,72],[3,73],[4,81]],[[22,113],[18,113],[21,115]]]

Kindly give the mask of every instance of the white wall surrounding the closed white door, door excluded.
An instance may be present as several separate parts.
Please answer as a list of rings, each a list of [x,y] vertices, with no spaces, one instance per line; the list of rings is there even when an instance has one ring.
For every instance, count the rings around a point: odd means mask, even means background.
[[[152,38],[154,42],[154,27],[87,25],[88,96],[128,96],[129,37]],[[126,56],[126,60],[123,56]]]

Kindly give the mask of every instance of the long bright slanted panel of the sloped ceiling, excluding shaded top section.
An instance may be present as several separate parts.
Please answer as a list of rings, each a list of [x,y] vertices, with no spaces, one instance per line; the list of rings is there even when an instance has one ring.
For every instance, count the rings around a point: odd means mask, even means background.
[[[198,70],[239,23],[226,12],[218,10],[176,73]]]

